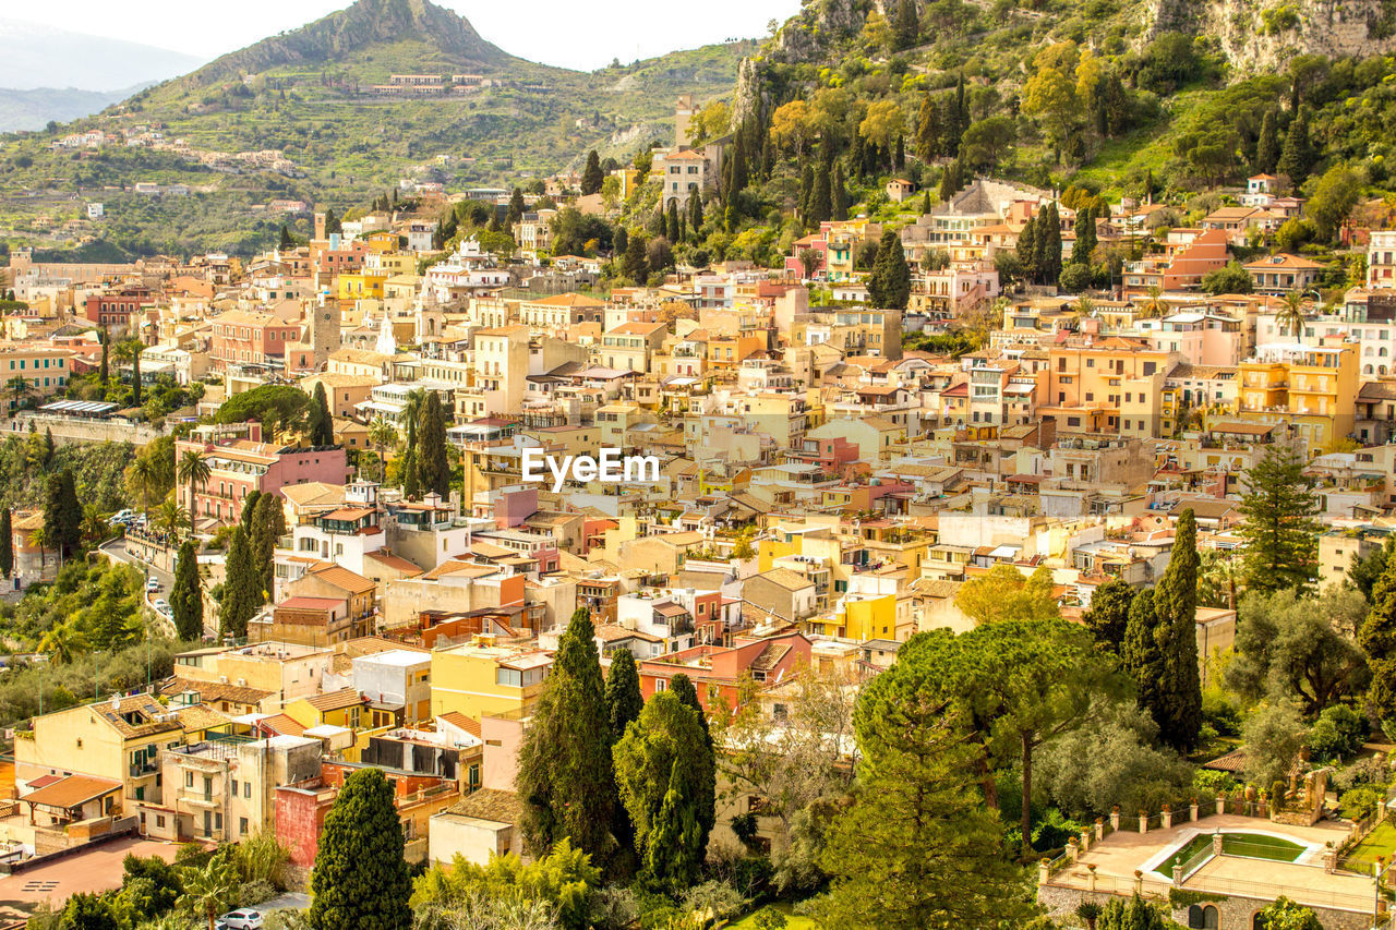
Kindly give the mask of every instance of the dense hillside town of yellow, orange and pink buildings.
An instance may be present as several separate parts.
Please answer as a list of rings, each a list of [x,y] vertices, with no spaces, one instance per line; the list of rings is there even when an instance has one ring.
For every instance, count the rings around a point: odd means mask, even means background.
[[[408,74],[373,91],[466,94],[477,82]],[[690,144],[695,113],[678,102],[673,144],[649,152],[648,173],[607,173],[613,200],[649,184],[669,222],[695,208],[701,222],[704,195],[732,172],[732,137]],[[103,144],[120,142],[54,142]],[[275,151],[170,151],[218,170],[295,170]],[[1290,926],[1258,922],[1275,906],[1308,909],[1328,929],[1390,919],[1381,864],[1375,905],[1372,878],[1376,856],[1396,850],[1389,747],[1358,736],[1329,760],[1312,736],[1335,726],[1332,708],[1356,721],[1339,698],[1361,700],[1368,665],[1379,677],[1383,649],[1396,649],[1357,631],[1368,599],[1372,617],[1383,609],[1376,577],[1396,539],[1396,230],[1361,219],[1378,211],[1353,211],[1335,256],[1319,260],[1279,244],[1305,198],[1272,173],[1188,218],[1150,198],[1101,209],[1079,191],[973,175],[933,204],[893,176],[884,202],[913,209],[912,222],[822,219],[775,268],[678,261],[616,285],[603,267],[631,261],[618,243],[614,257],[554,247],[564,211],[613,209],[582,187],[579,175],[528,194],[403,180],[353,219],[278,204],[310,214],[313,232],[254,257],[10,253],[8,436],[46,443],[50,457],[130,444],[124,480],[142,489],[101,514],[91,546],[54,536],[52,496],[7,512],[11,602],[22,613],[21,599],[61,592],[68,556],[87,552],[88,564],[134,566],[144,624],[101,642],[88,631],[89,642],[177,649],[169,674],[147,667],[140,684],[103,687],[94,672],[96,693],[67,694],[57,709],[42,707],[40,683],[36,712],[8,722],[0,862],[13,874],[0,884],[18,884],[0,895],[0,919],[31,919],[53,896],[29,874],[67,869],[54,880],[67,883],[61,898],[124,888],[131,866],[123,878],[103,859],[113,838],[165,855],[274,836],[282,884],[306,887],[336,799],[366,769],[389,783],[413,867],[543,859],[529,811],[539,802],[521,786],[528,735],[549,681],[575,662],[564,656],[584,648],[607,698],[611,679],[632,672],[646,708],[683,691],[716,737],[726,761],[698,862],[719,849],[783,862],[812,797],[776,795],[793,776],[762,775],[751,757],[789,746],[790,765],[846,786],[868,751],[853,747],[853,705],[874,681],[886,694],[913,687],[891,672],[909,640],[949,631],[1000,649],[997,624],[1050,617],[1093,637],[1092,655],[1125,656],[1136,595],[1171,591],[1184,570],[1191,593],[1174,628],[1195,647],[1180,645],[1188,667],[1168,674],[1191,676],[1202,704],[1191,733],[1170,733],[1167,714],[1148,722],[1181,754],[1152,795],[1093,796],[1071,815],[1054,795],[1055,821],[1030,810],[1027,771],[1001,782],[1005,800],[1023,795],[1023,828],[1008,841],[1029,873],[1023,906],[1090,927],[1124,906],[1111,901],[1161,901],[1188,927]],[[465,212],[487,218],[489,242],[443,237],[441,218]],[[1025,236],[1030,251],[1048,215],[1061,265],[1103,247],[1138,257],[1104,286],[1007,278],[1004,257],[1022,256]],[[893,247],[905,256],[900,300],[879,299],[885,265],[867,261],[870,246],[879,263]],[[140,471],[155,448],[163,479]],[[1258,503],[1290,492],[1302,497],[1291,511]],[[1308,542],[1265,554],[1261,522],[1275,514],[1276,538]],[[1273,613],[1335,624],[1333,655],[1252,669],[1254,695],[1268,674],[1300,681],[1304,711],[1322,711],[1304,736],[1286,741],[1277,723],[1255,736],[1222,707],[1228,698],[1208,704],[1268,638],[1240,617],[1242,595],[1289,596]],[[1351,598],[1361,616],[1339,635]],[[1164,595],[1149,599],[1166,616]],[[585,644],[570,633],[581,624]],[[63,630],[17,651],[15,667],[71,662]],[[1276,621],[1269,637],[1280,635]],[[811,695],[811,680],[829,693]],[[1072,681],[1074,693],[1096,687]],[[817,701],[825,716],[811,721]],[[829,716],[843,729],[831,732]],[[1023,747],[1046,744],[1050,726],[1032,739],[1023,729]],[[1385,746],[1381,729],[1369,737]],[[614,739],[620,778],[630,737]],[[757,753],[754,740],[775,748]],[[1262,764],[1262,748],[1275,758]],[[1339,771],[1354,753],[1365,781]],[[1184,757],[1196,771],[1180,781]],[[1076,781],[1061,758],[1043,768],[1054,783]],[[1248,856],[1247,842],[1263,855]],[[77,878],[73,863],[91,871]],[[744,891],[765,883],[776,887],[768,877]],[[705,906],[716,912],[690,909]]]

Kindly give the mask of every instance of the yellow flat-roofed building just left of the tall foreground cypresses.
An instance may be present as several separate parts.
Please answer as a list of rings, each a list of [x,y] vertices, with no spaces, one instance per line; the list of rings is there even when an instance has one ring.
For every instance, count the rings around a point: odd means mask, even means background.
[[[456,711],[479,721],[529,707],[543,690],[553,656],[539,649],[517,649],[468,642],[431,652],[431,714]]]

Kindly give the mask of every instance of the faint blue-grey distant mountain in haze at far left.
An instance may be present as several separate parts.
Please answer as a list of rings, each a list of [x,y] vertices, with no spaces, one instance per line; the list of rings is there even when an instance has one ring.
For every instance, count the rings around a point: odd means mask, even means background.
[[[0,54],[0,88],[21,91],[77,88],[128,92],[133,87],[183,74],[204,60],[152,45],[6,18],[0,18],[0,47],[4,47],[4,54]]]

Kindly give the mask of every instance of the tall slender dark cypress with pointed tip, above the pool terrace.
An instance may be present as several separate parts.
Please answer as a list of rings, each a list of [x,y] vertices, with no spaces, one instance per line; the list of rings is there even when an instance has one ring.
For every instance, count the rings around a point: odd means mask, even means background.
[[[1168,568],[1154,589],[1163,680],[1159,739],[1187,751],[1202,728],[1202,679],[1198,670],[1198,521],[1192,508],[1178,517]],[[1161,718],[1161,719],[1160,719]]]

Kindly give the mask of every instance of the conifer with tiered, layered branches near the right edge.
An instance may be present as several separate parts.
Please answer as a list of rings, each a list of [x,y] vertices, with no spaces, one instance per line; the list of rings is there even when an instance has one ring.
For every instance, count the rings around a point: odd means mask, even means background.
[[[1304,476],[1304,464],[1280,444],[1241,478],[1241,514],[1237,535],[1245,539],[1247,591],[1307,588],[1318,571],[1321,524],[1318,496]]]

